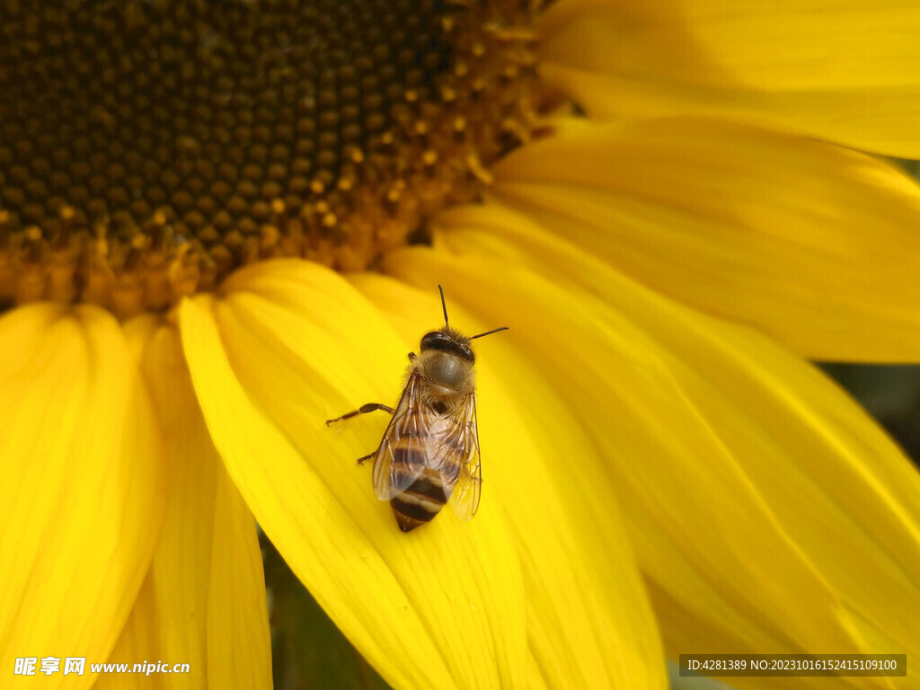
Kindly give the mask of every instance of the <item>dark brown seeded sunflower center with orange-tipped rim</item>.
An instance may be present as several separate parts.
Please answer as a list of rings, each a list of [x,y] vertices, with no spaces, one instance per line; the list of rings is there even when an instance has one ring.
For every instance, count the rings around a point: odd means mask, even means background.
[[[535,128],[522,0],[0,8],[0,306],[372,267]]]

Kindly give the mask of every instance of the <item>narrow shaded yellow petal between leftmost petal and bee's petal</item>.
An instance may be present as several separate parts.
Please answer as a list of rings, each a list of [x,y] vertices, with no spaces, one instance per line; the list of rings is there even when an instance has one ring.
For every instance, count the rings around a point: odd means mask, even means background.
[[[204,425],[178,329],[140,318],[127,331],[171,442],[167,516],[148,576],[155,645],[144,658],[188,663],[182,684],[270,688],[255,522]]]

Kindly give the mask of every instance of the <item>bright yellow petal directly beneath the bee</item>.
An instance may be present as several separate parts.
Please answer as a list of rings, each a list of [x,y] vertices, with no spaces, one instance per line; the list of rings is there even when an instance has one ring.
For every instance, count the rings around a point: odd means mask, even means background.
[[[296,575],[395,687],[521,686],[521,573],[496,506],[404,535],[354,462],[385,420],[324,424],[395,398],[406,345],[305,261],[240,271],[225,294],[182,305],[183,347],[230,476]]]

